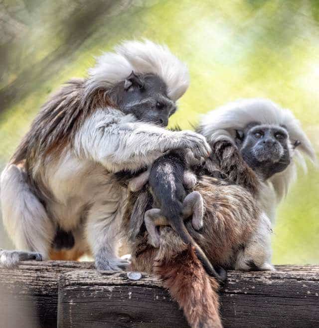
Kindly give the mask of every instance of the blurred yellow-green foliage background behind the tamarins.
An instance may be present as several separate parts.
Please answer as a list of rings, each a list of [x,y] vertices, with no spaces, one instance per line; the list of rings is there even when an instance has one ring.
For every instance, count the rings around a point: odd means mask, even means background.
[[[170,124],[246,97],[293,110],[319,151],[317,0],[1,0],[0,169],[51,91],[122,39],[166,43],[191,85]],[[12,247],[0,225],[0,247]],[[278,212],[275,264],[319,263],[319,172],[301,170]]]

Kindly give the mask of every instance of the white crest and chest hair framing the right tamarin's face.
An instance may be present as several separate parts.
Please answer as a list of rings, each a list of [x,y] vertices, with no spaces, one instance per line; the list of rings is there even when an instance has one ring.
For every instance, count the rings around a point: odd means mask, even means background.
[[[244,129],[250,122],[261,124],[285,125],[290,139],[290,153],[292,163],[283,172],[271,177],[261,193],[261,202],[270,218],[274,219],[276,206],[288,192],[290,184],[297,177],[295,162],[307,165],[303,155],[316,163],[316,154],[310,140],[303,131],[299,120],[289,109],[282,109],[268,99],[242,99],[228,103],[203,115],[200,122],[201,133],[208,141],[228,139],[234,142],[236,130]],[[297,149],[293,149],[296,140],[301,142]],[[275,203],[275,204],[274,204]],[[274,204],[271,206],[271,204]]]

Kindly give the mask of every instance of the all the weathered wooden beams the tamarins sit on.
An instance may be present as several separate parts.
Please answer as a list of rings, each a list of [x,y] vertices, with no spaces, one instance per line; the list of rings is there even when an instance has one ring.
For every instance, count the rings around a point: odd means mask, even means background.
[[[93,263],[23,262],[0,269],[0,327],[187,327],[160,280],[98,272]],[[319,327],[319,266],[229,271],[225,327]]]

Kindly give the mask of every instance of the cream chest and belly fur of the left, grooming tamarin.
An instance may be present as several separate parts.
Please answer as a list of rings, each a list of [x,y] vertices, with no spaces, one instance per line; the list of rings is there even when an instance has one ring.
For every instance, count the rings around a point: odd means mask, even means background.
[[[47,165],[42,177],[53,196],[46,204],[47,211],[66,230],[77,226],[97,202],[114,212],[125,193],[114,174],[98,163],[76,158],[70,151]]]

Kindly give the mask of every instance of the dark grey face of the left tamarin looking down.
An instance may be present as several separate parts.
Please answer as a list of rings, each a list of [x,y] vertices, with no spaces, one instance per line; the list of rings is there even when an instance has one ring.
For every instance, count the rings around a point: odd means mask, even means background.
[[[167,126],[168,117],[176,111],[175,103],[167,97],[167,88],[160,77],[133,72],[113,88],[116,104],[126,114],[144,122]]]

